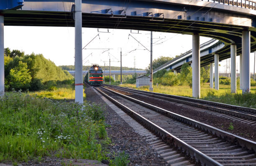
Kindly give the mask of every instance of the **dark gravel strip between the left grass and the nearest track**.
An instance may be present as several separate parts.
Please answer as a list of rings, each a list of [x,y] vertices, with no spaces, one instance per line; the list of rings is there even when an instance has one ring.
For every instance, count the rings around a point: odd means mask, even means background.
[[[119,154],[125,151],[129,155],[129,166],[165,166],[166,162],[161,159],[158,154],[151,149],[145,139],[136,133],[113,109],[94,92],[92,87],[85,89],[86,99],[90,102],[101,104],[104,108],[105,122],[108,137],[112,144],[108,147],[110,158],[113,154]]]

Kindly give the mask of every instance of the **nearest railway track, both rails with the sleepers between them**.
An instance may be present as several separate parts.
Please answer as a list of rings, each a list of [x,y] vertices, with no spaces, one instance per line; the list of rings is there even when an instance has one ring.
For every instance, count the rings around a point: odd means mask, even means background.
[[[187,159],[194,160],[196,164],[202,166],[256,166],[256,142],[104,87],[99,87],[97,90],[156,136],[163,139],[166,144],[182,151]],[[157,141],[152,144],[158,148],[166,146]],[[173,159],[168,160],[173,157],[172,152],[163,151],[160,156],[164,156],[167,163],[172,164]],[[180,162],[186,160],[179,158]]]

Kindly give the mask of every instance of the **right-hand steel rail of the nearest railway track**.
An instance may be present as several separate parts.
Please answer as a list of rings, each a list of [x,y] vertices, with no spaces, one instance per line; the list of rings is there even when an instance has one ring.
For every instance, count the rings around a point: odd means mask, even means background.
[[[183,122],[185,124],[189,124],[190,126],[193,126],[193,127],[197,128],[197,129],[200,129],[200,130],[203,130],[205,132],[211,133],[212,135],[216,135],[219,138],[221,138],[221,139],[223,139],[223,140],[225,140],[227,142],[230,142],[230,143],[233,143],[233,144],[237,144],[237,145],[240,145],[242,147],[246,147],[247,149],[253,150],[254,152],[256,151],[256,142],[254,142],[254,141],[242,138],[242,137],[237,136],[235,134],[228,133],[226,131],[220,130],[220,129],[212,127],[210,125],[207,125],[207,124],[201,123],[199,121],[195,121],[193,119],[187,118],[185,116],[182,116],[182,115],[179,115],[179,114],[175,114],[175,113],[173,113],[171,111],[167,111],[165,109],[156,107],[154,105],[151,105],[151,104],[139,101],[137,99],[133,99],[132,97],[128,97],[128,96],[126,96],[124,94],[120,94],[120,93],[115,92],[113,90],[110,90],[110,89],[107,89],[107,88],[104,88],[104,87],[101,87],[101,88],[105,89],[105,90],[107,90],[109,92],[112,92],[114,94],[117,94],[117,95],[119,95],[119,96],[121,96],[121,97],[123,97],[125,99],[128,99],[128,100],[134,102],[134,103],[140,104],[143,107],[146,107],[148,109],[151,109],[151,110],[154,110],[156,112],[159,112],[159,113],[161,113],[161,114],[163,114],[165,116],[168,116],[168,117],[170,117],[172,119],[181,121],[181,122]]]

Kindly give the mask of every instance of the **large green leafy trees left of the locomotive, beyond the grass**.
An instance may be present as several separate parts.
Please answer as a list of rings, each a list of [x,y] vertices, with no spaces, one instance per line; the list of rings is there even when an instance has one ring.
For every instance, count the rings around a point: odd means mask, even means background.
[[[31,91],[36,91],[40,89],[55,89],[51,81],[63,81],[71,80],[73,76],[69,72],[62,70],[57,67],[54,62],[47,60],[43,55],[20,55],[22,52],[18,50],[13,50],[5,48],[5,89],[11,90],[15,89],[30,89]],[[24,52],[23,52],[24,54]],[[12,58],[13,57],[13,58]],[[26,64],[26,69],[20,69],[20,62]],[[27,73],[26,73],[27,71]],[[29,71],[29,72],[28,72]],[[23,76],[24,75],[24,76]],[[27,81],[23,81],[26,79]],[[21,80],[21,82],[20,82]],[[26,83],[26,84],[25,84]]]

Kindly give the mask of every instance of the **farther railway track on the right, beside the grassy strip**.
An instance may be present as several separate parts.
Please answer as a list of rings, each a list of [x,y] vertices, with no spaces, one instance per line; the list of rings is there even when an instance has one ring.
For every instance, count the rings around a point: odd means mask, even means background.
[[[150,97],[156,97],[158,99],[166,100],[169,102],[176,102],[182,104],[183,107],[195,108],[197,111],[201,111],[207,114],[213,114],[215,116],[224,117],[226,119],[240,121],[245,124],[256,125],[256,109],[233,106],[229,104],[222,104],[216,102],[210,102],[200,99],[193,99],[189,97],[181,97],[169,94],[161,94],[155,92],[141,91],[126,87],[119,87],[114,85],[103,84],[104,86],[113,87],[115,89],[124,90],[126,92],[132,92],[135,94],[143,94]]]

